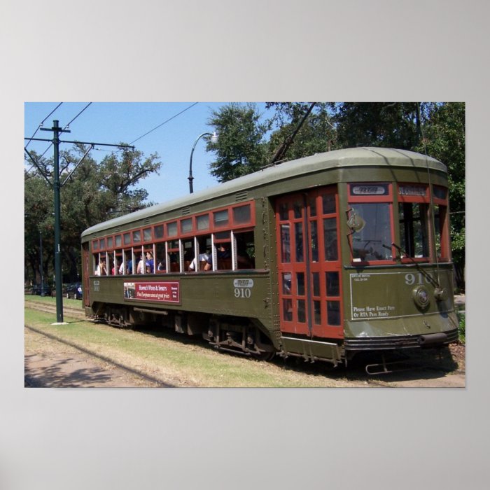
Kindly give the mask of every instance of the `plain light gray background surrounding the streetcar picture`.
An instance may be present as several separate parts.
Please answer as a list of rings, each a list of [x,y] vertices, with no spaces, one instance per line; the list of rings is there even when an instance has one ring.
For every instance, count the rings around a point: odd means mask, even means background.
[[[4,0],[0,488],[486,488],[489,10]],[[466,388],[23,388],[24,102],[228,100],[466,102]]]

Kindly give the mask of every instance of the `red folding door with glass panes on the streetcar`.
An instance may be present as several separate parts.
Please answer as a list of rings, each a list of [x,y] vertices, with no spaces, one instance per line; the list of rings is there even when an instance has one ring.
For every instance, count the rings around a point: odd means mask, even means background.
[[[337,186],[276,201],[281,332],[342,338]]]

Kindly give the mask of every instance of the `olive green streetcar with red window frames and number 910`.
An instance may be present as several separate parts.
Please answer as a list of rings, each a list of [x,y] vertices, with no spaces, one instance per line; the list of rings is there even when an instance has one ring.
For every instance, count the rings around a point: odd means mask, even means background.
[[[221,351],[346,364],[458,338],[447,167],[349,148],[85,230],[85,314]]]

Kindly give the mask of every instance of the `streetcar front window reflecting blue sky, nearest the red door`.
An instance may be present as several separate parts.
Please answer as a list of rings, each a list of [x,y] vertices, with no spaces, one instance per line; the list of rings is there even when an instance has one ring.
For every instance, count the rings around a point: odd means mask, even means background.
[[[351,212],[362,218],[365,225],[352,229],[352,257],[354,262],[391,260],[390,204],[370,202],[352,204]]]

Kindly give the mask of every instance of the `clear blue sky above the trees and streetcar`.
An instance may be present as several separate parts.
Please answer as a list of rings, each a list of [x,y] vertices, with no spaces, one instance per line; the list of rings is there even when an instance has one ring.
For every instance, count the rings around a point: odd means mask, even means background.
[[[52,132],[36,132],[43,120],[45,128],[52,127],[53,120],[58,120],[59,126],[64,128],[75,118],[69,127],[71,132],[63,133],[61,140],[104,144],[124,142],[134,144],[138,151],[144,153],[144,157],[158,153],[162,162],[159,174],[139,181],[138,187],[148,191],[148,201],[161,203],[189,193],[189,163],[193,145],[200,134],[213,132],[214,128],[207,124],[211,111],[228,102],[92,102],[88,107],[89,102],[64,102],[57,108],[58,104],[25,102],[25,138],[31,138],[36,133],[34,138],[50,139]],[[265,104],[258,103],[257,108],[260,113],[265,113]],[[50,115],[53,110],[55,112]],[[44,153],[50,146],[45,141],[25,140],[25,144],[27,150],[38,154]],[[72,146],[60,144],[59,150],[68,150]],[[117,148],[95,146],[89,155],[100,161],[113,150]],[[52,156],[51,147],[45,157]],[[201,138],[193,153],[194,192],[218,185],[218,181],[209,173],[209,164],[213,159],[214,154],[206,151],[206,142]],[[27,164],[29,167],[30,163]]]

